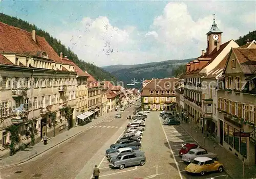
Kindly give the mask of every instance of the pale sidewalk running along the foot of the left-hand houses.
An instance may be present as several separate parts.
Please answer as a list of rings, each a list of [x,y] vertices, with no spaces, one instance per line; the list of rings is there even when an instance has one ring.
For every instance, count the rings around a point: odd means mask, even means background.
[[[112,111],[106,113],[103,116],[94,119],[92,122],[83,125],[71,128],[69,131],[65,131],[63,133],[58,134],[55,137],[49,138],[47,140],[47,145],[44,145],[44,142],[39,142],[32,147],[26,148],[23,151],[18,151],[14,156],[9,156],[6,158],[0,158],[0,167],[8,167],[12,165],[17,165],[20,163],[24,163],[38,155],[42,155],[45,151],[55,147],[56,145],[61,144],[62,142],[86,131],[91,126],[96,125],[97,123],[101,122],[104,119],[110,118],[111,116],[114,117],[116,111]]]

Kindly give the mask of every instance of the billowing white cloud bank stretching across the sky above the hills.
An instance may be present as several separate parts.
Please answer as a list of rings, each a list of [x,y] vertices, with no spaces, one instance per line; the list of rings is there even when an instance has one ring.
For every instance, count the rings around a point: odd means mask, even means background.
[[[195,9],[203,6],[209,8],[219,5],[215,2],[194,4]],[[221,4],[221,2],[218,2]],[[228,4],[223,6],[229,7]],[[114,64],[138,64],[169,59],[194,58],[200,55],[207,45],[206,33],[212,24],[212,14],[208,12],[193,17],[193,9],[185,3],[168,3],[162,14],[154,18],[147,32],[138,31],[136,27],[114,27],[107,17],[96,19],[84,17],[73,29],[57,35],[61,41],[78,55],[80,59],[93,62],[99,66]],[[237,6],[234,13],[237,13]],[[223,11],[221,7],[219,11]],[[232,12],[229,9],[230,12]],[[216,12],[217,13],[217,12]],[[254,15],[254,18],[253,18]],[[224,22],[226,14],[218,16],[216,23],[223,31],[222,43],[245,35],[250,29],[239,29],[232,22]],[[255,12],[244,12],[244,23],[255,26]],[[236,19],[232,19],[236,21]]]

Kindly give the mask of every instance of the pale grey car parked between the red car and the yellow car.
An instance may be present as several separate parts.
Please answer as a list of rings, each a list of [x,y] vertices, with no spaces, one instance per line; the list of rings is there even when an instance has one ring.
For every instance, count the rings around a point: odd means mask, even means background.
[[[190,163],[197,157],[208,157],[217,160],[218,156],[212,152],[207,152],[204,148],[193,148],[182,156],[182,160]]]

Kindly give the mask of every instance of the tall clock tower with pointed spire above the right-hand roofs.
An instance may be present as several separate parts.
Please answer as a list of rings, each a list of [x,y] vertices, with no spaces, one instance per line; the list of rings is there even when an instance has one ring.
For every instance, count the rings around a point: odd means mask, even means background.
[[[207,35],[207,54],[210,54],[215,48],[219,50],[221,45],[221,34],[222,31],[219,30],[217,24],[214,22],[211,25],[210,31],[206,34]]]

